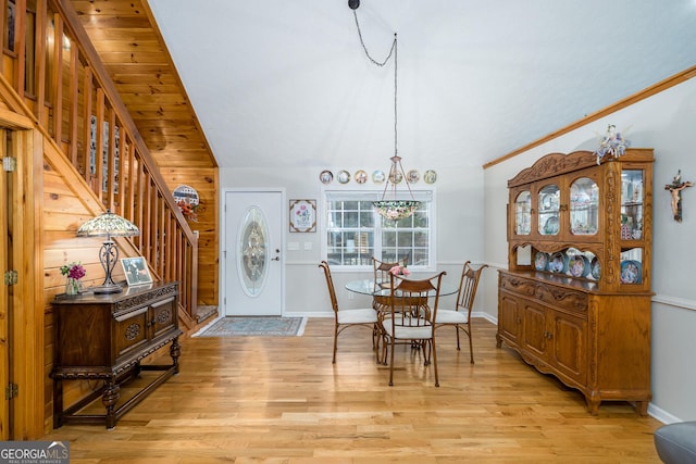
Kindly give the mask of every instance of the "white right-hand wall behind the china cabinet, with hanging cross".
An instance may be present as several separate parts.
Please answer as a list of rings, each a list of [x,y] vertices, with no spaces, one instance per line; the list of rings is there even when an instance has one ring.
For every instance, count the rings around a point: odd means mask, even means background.
[[[662,422],[696,419],[696,187],[682,192],[683,222],[672,218],[663,186],[682,170],[696,183],[696,79],[495,165],[484,172],[485,261],[507,266],[507,180],[550,152],[594,150],[616,124],[633,147],[655,149],[652,243],[652,402]],[[501,153],[502,154],[502,153]],[[497,318],[497,273],[484,275],[486,311]]]

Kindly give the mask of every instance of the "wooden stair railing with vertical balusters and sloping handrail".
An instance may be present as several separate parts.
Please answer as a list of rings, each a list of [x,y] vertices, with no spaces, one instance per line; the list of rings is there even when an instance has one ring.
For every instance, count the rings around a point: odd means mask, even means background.
[[[140,228],[132,244],[154,277],[178,280],[179,304],[194,321],[198,238],[70,1],[0,0],[0,73],[104,210]]]

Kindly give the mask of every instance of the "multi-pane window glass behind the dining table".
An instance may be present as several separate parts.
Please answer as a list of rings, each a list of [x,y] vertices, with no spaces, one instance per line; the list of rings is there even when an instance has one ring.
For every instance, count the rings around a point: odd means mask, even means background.
[[[408,260],[409,266],[430,267],[433,254],[433,192],[413,191],[421,206],[411,217],[387,221],[372,201],[382,192],[325,191],[326,261],[332,266],[372,269],[381,261]]]

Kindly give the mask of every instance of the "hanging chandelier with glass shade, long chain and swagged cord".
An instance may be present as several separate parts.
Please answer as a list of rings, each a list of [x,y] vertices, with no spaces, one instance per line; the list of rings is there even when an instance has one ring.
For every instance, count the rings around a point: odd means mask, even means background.
[[[384,186],[384,191],[382,192],[382,198],[377,201],[373,201],[372,205],[375,211],[385,220],[390,221],[399,221],[410,217],[415,210],[421,205],[420,201],[415,201],[413,198],[413,192],[411,191],[411,186],[409,186],[406,179],[406,173],[403,171],[403,166],[401,165],[401,156],[399,156],[398,152],[398,130],[397,130],[397,35],[394,34],[394,41],[391,42],[391,49],[387,54],[387,58],[384,61],[378,62],[374,60],[370,52],[368,52],[368,48],[365,47],[365,42],[362,39],[362,32],[360,30],[360,23],[358,22],[358,14],[356,10],[360,7],[360,0],[348,0],[348,7],[353,11],[353,16],[356,18],[356,26],[358,28],[358,37],[360,37],[360,45],[365,52],[368,59],[375,64],[376,66],[384,66],[391,57],[394,57],[394,156],[390,158],[391,165],[389,166],[389,175],[387,176],[386,184]],[[405,180],[406,187],[408,188],[410,200],[399,199],[397,197],[396,187],[401,180]]]

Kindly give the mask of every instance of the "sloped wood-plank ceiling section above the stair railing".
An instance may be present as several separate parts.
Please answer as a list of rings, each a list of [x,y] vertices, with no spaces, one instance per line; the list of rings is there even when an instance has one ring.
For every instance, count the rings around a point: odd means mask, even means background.
[[[147,0],[70,3],[158,165],[216,167]]]

